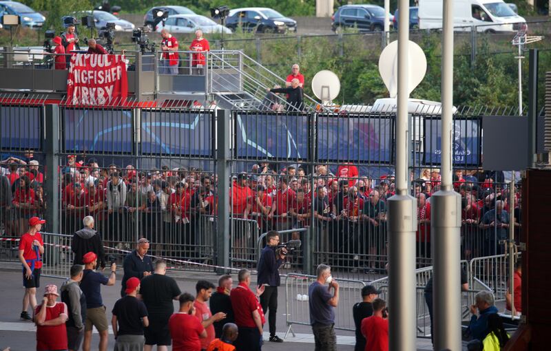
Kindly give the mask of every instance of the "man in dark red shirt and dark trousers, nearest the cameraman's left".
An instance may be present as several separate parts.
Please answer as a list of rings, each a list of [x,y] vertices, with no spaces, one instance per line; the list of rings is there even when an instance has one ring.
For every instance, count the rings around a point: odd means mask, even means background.
[[[264,286],[256,289],[256,295],[251,291],[251,272],[242,269],[238,273],[239,285],[231,290],[231,308],[236,318],[239,334],[234,345],[237,350],[260,351],[262,343],[262,307],[257,296],[262,295]]]

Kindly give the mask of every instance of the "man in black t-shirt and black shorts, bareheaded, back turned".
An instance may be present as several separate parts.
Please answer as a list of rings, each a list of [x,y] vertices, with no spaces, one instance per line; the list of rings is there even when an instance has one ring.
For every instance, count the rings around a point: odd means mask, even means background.
[[[154,266],[153,275],[143,278],[140,284],[140,295],[149,317],[149,326],[144,331],[146,350],[152,350],[153,345],[157,345],[158,350],[171,345],[168,320],[174,312],[172,300],[177,300],[182,293],[176,280],[165,275],[164,259],[157,259]]]

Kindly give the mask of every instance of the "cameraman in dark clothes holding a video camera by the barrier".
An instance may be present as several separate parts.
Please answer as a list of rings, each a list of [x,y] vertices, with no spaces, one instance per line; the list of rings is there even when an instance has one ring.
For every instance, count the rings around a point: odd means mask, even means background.
[[[260,295],[260,306],[264,311],[264,315],[267,314],[268,308],[270,309],[270,315],[268,317],[270,327],[270,341],[275,343],[282,343],[283,340],[275,335],[275,317],[277,317],[278,310],[278,286],[280,286],[281,279],[279,268],[283,263],[286,255],[286,248],[277,248],[280,242],[280,235],[277,231],[269,231],[266,235],[266,246],[260,253],[260,259],[258,260],[258,286],[264,286],[265,290]]]

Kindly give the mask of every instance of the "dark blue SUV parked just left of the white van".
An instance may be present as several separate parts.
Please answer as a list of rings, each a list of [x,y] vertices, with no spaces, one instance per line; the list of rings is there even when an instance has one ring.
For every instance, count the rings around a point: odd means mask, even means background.
[[[388,20],[392,25],[393,16]],[[384,30],[384,8],[377,5],[344,5],[331,17],[331,29],[339,32],[342,28],[357,28],[361,32]]]

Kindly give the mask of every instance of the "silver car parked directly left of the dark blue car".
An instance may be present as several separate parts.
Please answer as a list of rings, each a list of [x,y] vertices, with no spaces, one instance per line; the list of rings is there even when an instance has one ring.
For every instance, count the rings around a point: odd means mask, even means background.
[[[174,14],[165,21],[165,27],[157,25],[157,32],[165,28],[171,33],[194,33],[200,29],[205,34],[220,33],[231,34],[229,28],[224,27],[200,14]]]

